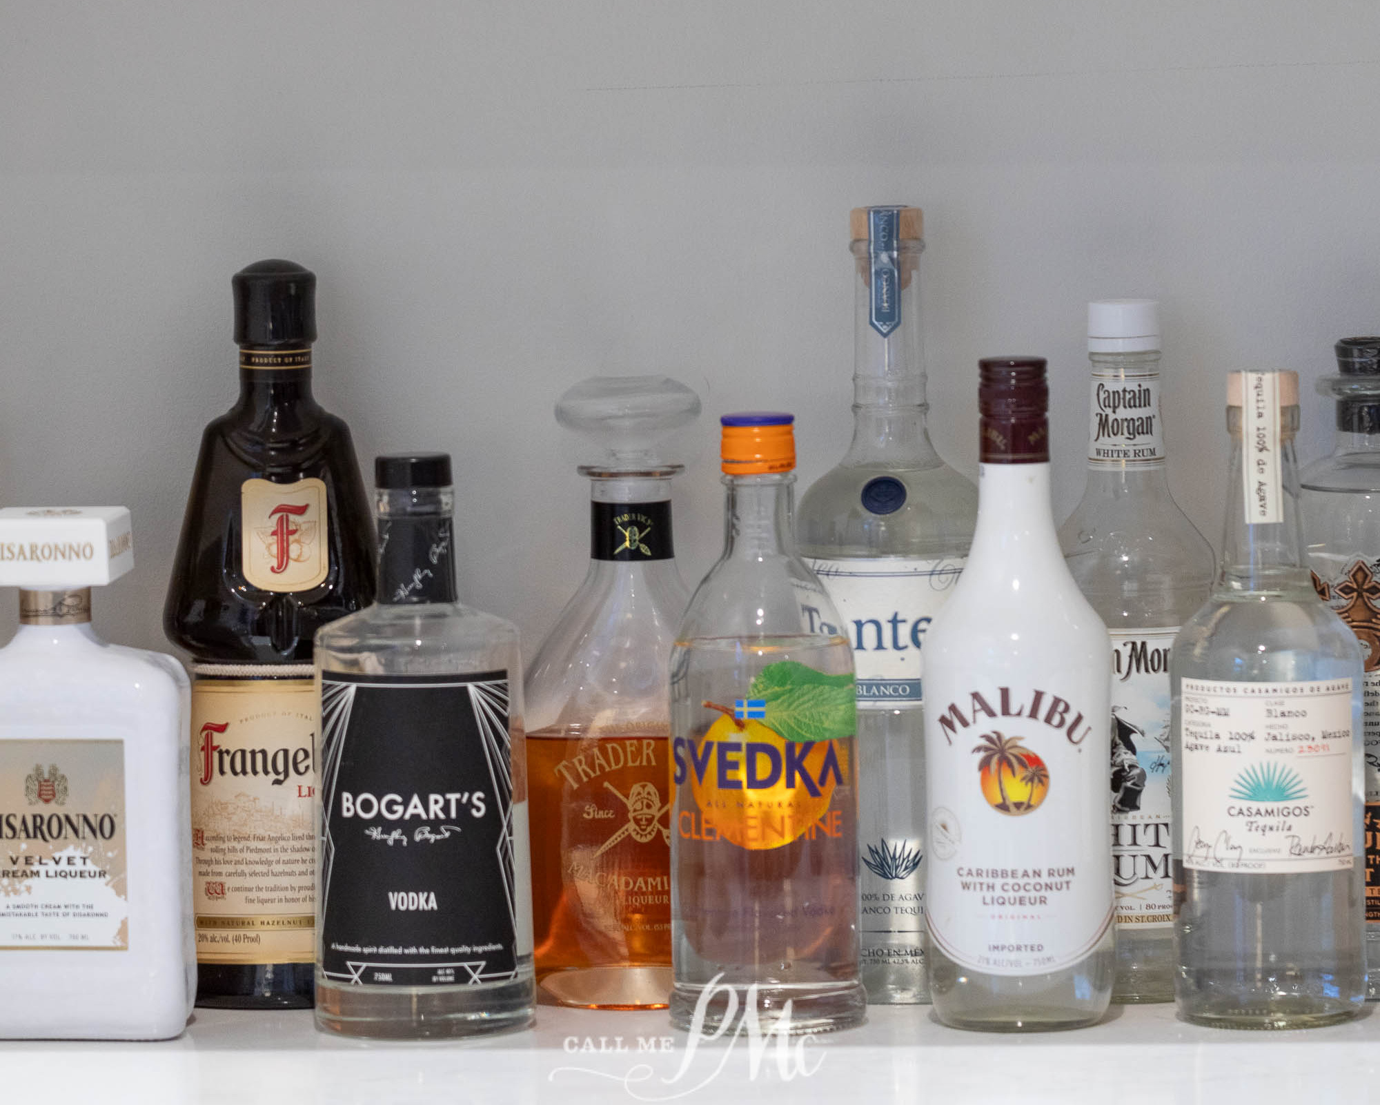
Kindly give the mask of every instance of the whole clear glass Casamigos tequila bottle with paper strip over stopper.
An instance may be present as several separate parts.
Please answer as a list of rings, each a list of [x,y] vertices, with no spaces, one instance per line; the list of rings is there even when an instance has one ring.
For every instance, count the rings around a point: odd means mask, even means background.
[[[1227,430],[1221,569],[1172,655],[1174,997],[1315,1028],[1365,1000],[1361,649],[1303,562],[1297,374],[1232,373]]]

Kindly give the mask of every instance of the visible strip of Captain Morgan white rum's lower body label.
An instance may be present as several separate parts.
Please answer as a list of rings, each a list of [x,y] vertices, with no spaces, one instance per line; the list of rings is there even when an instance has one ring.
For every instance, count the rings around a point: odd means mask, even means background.
[[[1112,883],[1116,924],[1167,925],[1169,649],[1177,626],[1112,634]]]

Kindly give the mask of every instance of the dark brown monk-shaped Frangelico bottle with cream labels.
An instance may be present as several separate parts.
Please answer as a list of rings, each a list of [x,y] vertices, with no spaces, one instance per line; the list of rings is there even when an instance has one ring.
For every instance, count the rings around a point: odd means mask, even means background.
[[[240,398],[201,438],[163,626],[192,653],[197,1004],[312,1004],[312,635],[374,597],[349,430],[312,398],[316,278],[237,272]]]

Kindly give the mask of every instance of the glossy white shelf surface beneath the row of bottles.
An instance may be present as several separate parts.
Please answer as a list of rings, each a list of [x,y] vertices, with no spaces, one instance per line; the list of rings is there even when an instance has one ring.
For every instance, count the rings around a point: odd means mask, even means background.
[[[1223,1032],[1176,1021],[1172,1006],[1145,1006],[1114,1010],[1090,1029],[1029,1036],[945,1029],[929,1007],[868,1012],[862,1028],[805,1044],[813,1073],[787,1082],[776,1040],[751,1077],[745,1037],[731,1050],[701,1046],[675,1080],[687,1037],[664,1012],[542,1006],[527,1032],[464,1044],[373,1044],[324,1036],[309,1012],[197,1010],[186,1033],[166,1043],[3,1043],[0,1102],[1333,1105],[1374,1099],[1380,1079],[1380,1018],[1369,1010],[1359,1021],[1311,1032]],[[585,1040],[598,1047],[600,1037],[606,1048],[621,1037],[627,1051],[567,1051]],[[668,1037],[669,1051],[639,1053],[639,1040]],[[792,1041],[792,1051],[799,1047]],[[622,1080],[638,1066],[649,1075],[632,1084],[633,1095]]]

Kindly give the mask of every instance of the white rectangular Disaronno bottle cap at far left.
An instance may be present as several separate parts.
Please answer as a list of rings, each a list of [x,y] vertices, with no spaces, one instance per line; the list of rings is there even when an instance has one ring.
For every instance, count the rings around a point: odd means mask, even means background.
[[[99,587],[134,568],[126,507],[0,510],[0,587]]]

